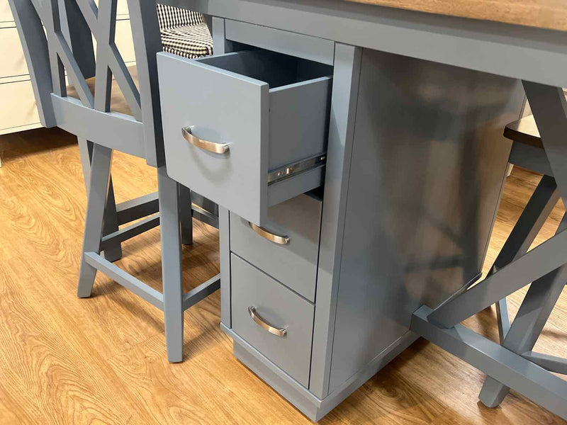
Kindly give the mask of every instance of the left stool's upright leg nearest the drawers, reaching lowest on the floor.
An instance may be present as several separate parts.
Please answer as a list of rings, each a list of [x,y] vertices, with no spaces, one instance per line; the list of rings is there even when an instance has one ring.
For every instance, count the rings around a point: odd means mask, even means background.
[[[164,292],[167,360],[183,360],[183,284],[181,280],[181,228],[179,185],[169,178],[165,166],[157,169],[159,225],[162,234],[162,279]]]

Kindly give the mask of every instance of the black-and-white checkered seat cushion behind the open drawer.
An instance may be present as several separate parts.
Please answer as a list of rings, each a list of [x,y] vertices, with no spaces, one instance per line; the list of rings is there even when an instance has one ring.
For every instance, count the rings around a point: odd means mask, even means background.
[[[201,13],[157,4],[157,18],[164,52],[190,59],[213,54],[213,38]]]

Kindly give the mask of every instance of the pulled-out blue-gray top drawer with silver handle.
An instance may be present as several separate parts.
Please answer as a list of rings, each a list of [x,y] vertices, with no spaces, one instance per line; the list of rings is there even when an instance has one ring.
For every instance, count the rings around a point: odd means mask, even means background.
[[[257,225],[321,185],[332,67],[267,50],[158,67],[173,179]]]

